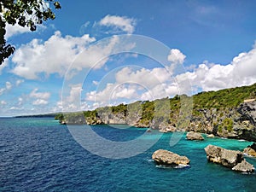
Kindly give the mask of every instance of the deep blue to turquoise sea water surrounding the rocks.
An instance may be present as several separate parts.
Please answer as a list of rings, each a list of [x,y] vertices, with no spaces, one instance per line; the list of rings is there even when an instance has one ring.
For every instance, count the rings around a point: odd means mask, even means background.
[[[119,128],[125,128],[124,125]],[[145,129],[93,127],[113,141],[128,141]],[[152,137],[154,139],[154,132]],[[182,139],[170,147],[172,133],[137,156],[113,160],[91,154],[77,143],[66,125],[49,118],[0,119],[0,191],[256,191],[256,175],[232,172],[207,163],[209,143],[242,150],[245,141]],[[189,168],[158,167],[151,160],[165,148],[191,160]],[[256,167],[256,159],[247,158]]]

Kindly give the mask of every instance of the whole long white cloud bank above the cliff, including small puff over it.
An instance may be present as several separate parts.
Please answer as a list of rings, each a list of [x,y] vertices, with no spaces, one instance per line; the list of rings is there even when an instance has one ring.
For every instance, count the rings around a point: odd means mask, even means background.
[[[178,49],[172,49],[168,61],[183,64],[186,58]],[[152,69],[123,67],[115,73],[114,83],[108,83],[102,90],[86,94],[87,101],[106,105],[110,100],[119,98],[154,100],[176,94],[192,94],[201,90],[220,90],[230,87],[253,84],[256,82],[256,47],[247,53],[234,57],[228,65],[204,61],[193,72],[173,74],[166,68]],[[126,84],[129,84],[128,86]],[[131,86],[133,84],[133,86]],[[100,85],[99,85],[100,86]],[[143,87],[143,89],[142,89]]]

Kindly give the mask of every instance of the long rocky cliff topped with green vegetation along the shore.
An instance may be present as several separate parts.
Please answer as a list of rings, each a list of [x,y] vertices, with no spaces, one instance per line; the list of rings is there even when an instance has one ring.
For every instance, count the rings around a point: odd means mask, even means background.
[[[66,113],[59,119],[62,124],[128,124],[162,132],[195,131],[255,142],[255,90],[256,84],[253,84],[201,92],[191,97],[183,95],[152,102],[138,101],[94,111]],[[192,99],[193,108],[191,113],[181,114],[180,108],[186,108],[184,101],[187,99]]]

